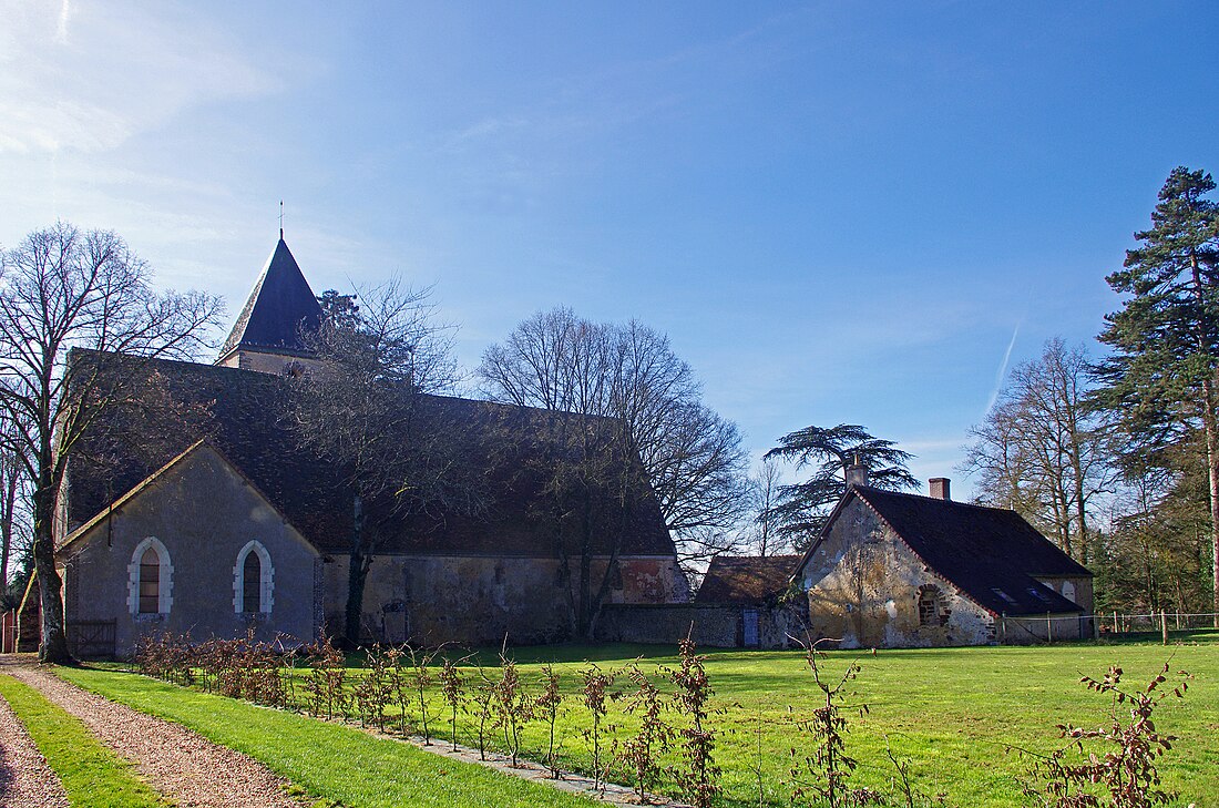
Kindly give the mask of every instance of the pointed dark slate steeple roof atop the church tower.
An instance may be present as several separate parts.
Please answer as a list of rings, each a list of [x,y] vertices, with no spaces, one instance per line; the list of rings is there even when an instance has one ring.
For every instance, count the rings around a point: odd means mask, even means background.
[[[280,234],[279,244],[267,258],[250,299],[224,340],[219,358],[223,361],[236,349],[307,355],[301,331],[316,329],[321,322],[322,307]]]

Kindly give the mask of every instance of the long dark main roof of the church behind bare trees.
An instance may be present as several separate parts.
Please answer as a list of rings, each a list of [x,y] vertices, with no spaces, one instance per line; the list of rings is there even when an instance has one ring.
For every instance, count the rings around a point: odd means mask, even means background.
[[[200,439],[239,469],[323,553],[347,551],[352,496],[333,466],[299,447],[286,420],[289,381],[239,368],[77,351],[74,361],[104,361],[104,373],[146,380],[155,395],[202,405],[201,420],[149,422],[110,411],[80,441],[68,464],[67,528],[95,517],[123,492]],[[161,392],[163,391],[163,392]],[[379,552],[457,556],[553,556],[557,537],[538,518],[545,464],[553,447],[540,435],[541,411],[468,399],[427,396],[425,406],[455,427],[460,457],[474,469],[488,505],[478,516],[441,512],[386,519]],[[106,450],[101,450],[107,435]],[[90,459],[106,455],[99,466]],[[674,555],[655,496],[640,494],[629,511],[606,517],[595,552],[622,535],[622,555]],[[378,522],[377,513],[368,523]],[[569,545],[570,546],[570,545]]]

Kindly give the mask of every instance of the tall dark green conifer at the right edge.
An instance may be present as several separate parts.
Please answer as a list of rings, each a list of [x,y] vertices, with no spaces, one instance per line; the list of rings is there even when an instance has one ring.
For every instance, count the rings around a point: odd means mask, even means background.
[[[1109,286],[1130,295],[1106,317],[1101,401],[1115,409],[1143,459],[1201,430],[1210,489],[1214,612],[1219,613],[1219,204],[1204,171],[1178,167],[1159,191],[1150,230],[1126,251]],[[1215,618],[1219,628],[1219,615]]]

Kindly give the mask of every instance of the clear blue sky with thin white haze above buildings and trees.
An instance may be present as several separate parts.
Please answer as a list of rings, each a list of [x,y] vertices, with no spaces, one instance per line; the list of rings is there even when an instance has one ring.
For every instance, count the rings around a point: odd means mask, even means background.
[[[112,228],[240,308],[434,284],[672,338],[752,450],[862,423],[958,478],[1008,361],[1091,342],[1178,165],[1213,2],[0,2],[0,244]]]

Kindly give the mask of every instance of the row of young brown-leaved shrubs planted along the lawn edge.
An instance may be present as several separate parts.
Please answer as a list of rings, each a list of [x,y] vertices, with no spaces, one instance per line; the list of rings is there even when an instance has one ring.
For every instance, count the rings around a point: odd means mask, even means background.
[[[541,665],[538,684],[529,686],[506,651],[491,668],[474,656],[458,658],[444,651],[373,646],[364,652],[364,669],[355,674],[345,654],[324,636],[313,645],[289,647],[256,641],[252,633],[206,642],[163,634],[143,639],[135,662],[145,674],[183,686],[301,709],[318,718],[358,720],[383,732],[422,736],[424,743],[432,743],[438,724],[447,725],[455,750],[462,717],[480,757],[485,759],[489,748],[500,748],[513,767],[518,765],[524,730],[540,724],[546,739],[540,762],[555,778],[562,775],[563,763],[556,725],[561,709],[574,702],[585,715],[581,735],[591,754],[588,773],[596,787],[620,773],[641,802],[662,790],[680,795],[695,808],[709,808],[717,801],[722,790],[722,770],[716,763],[722,730],[717,725],[728,708],[713,706],[706,657],[696,653],[689,639],[679,643],[674,667],[645,672],[636,662],[606,670],[585,663],[577,674],[574,693],[564,692],[561,672],[549,664]],[[912,784],[908,763],[891,751],[887,791],[852,785],[858,762],[846,747],[850,714],[856,709],[862,714],[867,706],[845,708],[847,689],[859,667],[851,662],[839,674],[826,676],[824,654],[816,643],[806,647],[805,662],[816,690],[803,711],[791,711],[790,804],[945,804],[946,795],[920,792]],[[1190,676],[1180,672],[1174,685],[1163,687],[1167,676],[1168,665],[1136,691],[1121,689],[1119,668],[1102,679],[1084,678],[1090,690],[1111,697],[1111,725],[1098,730],[1059,725],[1059,737],[1067,743],[1050,756],[1018,750],[1029,758],[1024,795],[1032,804],[1151,808],[1170,802],[1175,795],[1160,789],[1156,763],[1176,739],[1156,731],[1152,713],[1164,697],[1182,697]],[[616,700],[633,717],[630,726],[608,720],[610,703]],[[761,770],[758,802],[764,802]]]

